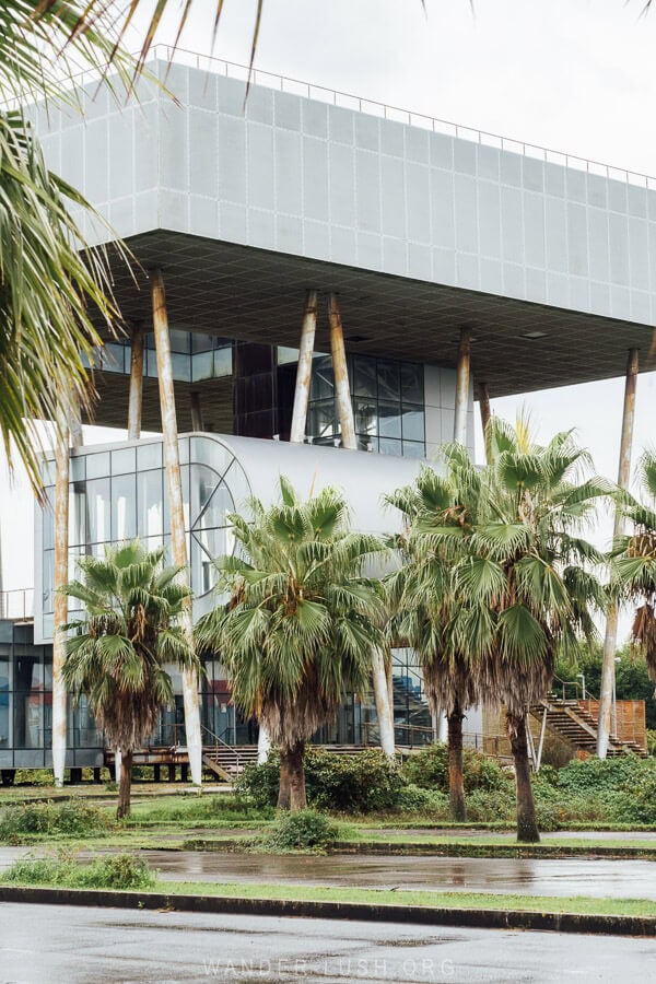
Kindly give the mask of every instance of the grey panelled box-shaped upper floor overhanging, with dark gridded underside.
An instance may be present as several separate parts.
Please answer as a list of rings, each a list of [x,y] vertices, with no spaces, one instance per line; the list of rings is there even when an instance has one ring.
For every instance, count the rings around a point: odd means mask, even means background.
[[[236,67],[191,60],[153,60],[163,84],[127,105],[91,84],[84,120],[37,114],[115,230],[91,238],[163,268],[173,327],[294,347],[314,286],[351,351],[449,366],[470,326],[492,396],[619,375],[629,347],[649,367],[656,183],[259,72],[246,97]]]

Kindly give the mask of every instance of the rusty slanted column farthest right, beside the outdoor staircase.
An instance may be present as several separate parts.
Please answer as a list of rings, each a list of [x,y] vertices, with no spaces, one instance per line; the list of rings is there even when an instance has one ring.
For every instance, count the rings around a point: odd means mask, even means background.
[[[622,436],[620,440],[620,464],[618,467],[618,485],[629,488],[631,477],[631,445],[633,443],[633,420],[635,417],[635,386],[637,383],[637,349],[629,349],[626,361],[626,382],[624,385],[624,409],[622,413]],[[613,542],[623,532],[622,513],[616,506],[612,530]],[[616,678],[616,651],[618,645],[618,606],[611,601],[606,617],[606,636],[604,639],[604,665],[601,668],[601,692],[599,694],[599,722],[597,725],[597,754],[605,759],[608,752],[610,736],[610,717]]]

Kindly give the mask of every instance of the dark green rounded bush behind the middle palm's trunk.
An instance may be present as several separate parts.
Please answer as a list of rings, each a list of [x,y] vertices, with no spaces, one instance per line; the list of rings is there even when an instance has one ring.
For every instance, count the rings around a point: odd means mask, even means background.
[[[248,765],[236,783],[236,792],[256,807],[276,806],[280,782],[280,757],[269,754],[262,765]],[[401,773],[382,751],[335,754],[308,748],[305,754],[307,801],[318,809],[366,813],[394,809],[403,786]]]

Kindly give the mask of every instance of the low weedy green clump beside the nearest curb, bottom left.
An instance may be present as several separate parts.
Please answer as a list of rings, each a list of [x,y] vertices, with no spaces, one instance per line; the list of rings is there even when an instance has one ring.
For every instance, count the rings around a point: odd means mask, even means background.
[[[150,889],[154,872],[132,854],[113,854],[80,864],[74,854],[57,857],[21,857],[2,875],[16,885],[57,885],[66,888]]]

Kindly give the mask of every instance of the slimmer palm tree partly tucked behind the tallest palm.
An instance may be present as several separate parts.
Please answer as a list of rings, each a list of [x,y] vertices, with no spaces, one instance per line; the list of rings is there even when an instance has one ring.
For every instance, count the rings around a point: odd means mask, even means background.
[[[446,714],[450,812],[464,822],[462,721],[483,694],[469,649],[455,645],[462,586],[454,571],[478,512],[480,477],[460,444],[444,445],[440,458],[444,475],[423,468],[413,487],[387,499],[405,517],[396,543],[403,565],[386,578],[395,612],[388,632],[415,651],[431,711]]]

